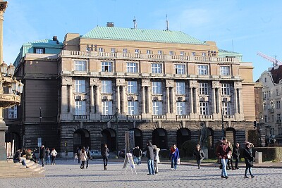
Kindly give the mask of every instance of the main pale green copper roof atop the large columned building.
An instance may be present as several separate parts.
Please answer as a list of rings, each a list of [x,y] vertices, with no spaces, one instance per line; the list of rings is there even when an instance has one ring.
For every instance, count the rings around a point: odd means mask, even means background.
[[[97,26],[83,35],[82,38],[207,45],[199,39],[195,39],[180,31],[143,30],[122,27]]]

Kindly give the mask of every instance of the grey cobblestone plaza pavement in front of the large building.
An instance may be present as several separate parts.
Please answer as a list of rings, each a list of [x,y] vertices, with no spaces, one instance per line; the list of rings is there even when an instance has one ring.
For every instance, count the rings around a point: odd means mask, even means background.
[[[137,175],[132,175],[130,168],[125,174],[121,161],[110,160],[108,170],[102,163],[90,161],[89,168],[81,170],[77,161],[58,160],[56,165],[46,165],[46,177],[0,179],[0,187],[281,187],[282,183],[282,168],[253,168],[255,178],[244,179],[243,163],[239,170],[228,170],[228,180],[221,179],[219,168],[207,165],[198,170],[184,163],[171,170],[169,163],[161,163],[157,175],[147,175],[144,161],[136,167]]]

